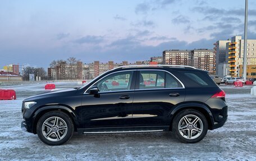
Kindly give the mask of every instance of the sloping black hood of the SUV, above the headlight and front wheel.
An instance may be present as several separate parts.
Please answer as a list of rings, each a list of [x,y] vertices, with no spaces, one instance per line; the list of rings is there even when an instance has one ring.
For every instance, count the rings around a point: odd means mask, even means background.
[[[62,89],[62,90],[53,90],[49,91],[46,93],[40,93],[37,95],[30,96],[29,98],[26,98],[23,100],[23,102],[28,102],[28,101],[35,101],[38,99],[43,99],[43,98],[51,98],[54,96],[65,96],[65,95],[71,95],[75,94],[77,89]]]

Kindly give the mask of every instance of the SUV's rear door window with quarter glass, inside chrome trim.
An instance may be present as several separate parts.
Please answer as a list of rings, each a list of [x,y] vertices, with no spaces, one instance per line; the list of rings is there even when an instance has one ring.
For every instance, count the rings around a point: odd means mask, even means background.
[[[140,71],[139,89],[182,88],[175,77],[164,71]]]

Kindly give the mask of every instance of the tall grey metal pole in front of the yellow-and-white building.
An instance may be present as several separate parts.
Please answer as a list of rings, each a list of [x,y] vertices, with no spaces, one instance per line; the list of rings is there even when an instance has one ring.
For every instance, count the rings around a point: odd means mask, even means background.
[[[245,15],[244,15],[244,81],[246,81],[247,73],[247,17],[248,17],[248,0],[245,0]]]

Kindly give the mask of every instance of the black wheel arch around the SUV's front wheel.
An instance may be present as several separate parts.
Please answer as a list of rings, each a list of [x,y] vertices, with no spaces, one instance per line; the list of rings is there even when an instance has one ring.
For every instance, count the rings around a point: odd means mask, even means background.
[[[70,118],[74,122],[75,131],[77,131],[77,128],[79,127],[79,123],[77,121],[77,117],[76,117],[75,113],[71,110],[70,107],[66,107],[65,105],[48,105],[48,106],[40,107],[34,113],[34,117],[33,117],[33,119],[34,119],[33,133],[34,134],[36,134],[36,125],[38,123],[39,118],[42,117],[43,114],[45,114],[47,112],[51,112],[51,111],[62,111],[62,112],[65,112],[66,114],[68,114],[68,116],[70,116]]]

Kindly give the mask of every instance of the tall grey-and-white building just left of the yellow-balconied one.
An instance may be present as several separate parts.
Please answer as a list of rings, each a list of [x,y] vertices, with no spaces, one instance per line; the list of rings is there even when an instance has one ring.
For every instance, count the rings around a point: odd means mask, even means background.
[[[228,66],[226,59],[226,48],[230,40],[218,40],[215,45],[214,53],[216,54],[216,75],[224,77],[228,75],[226,67]]]

